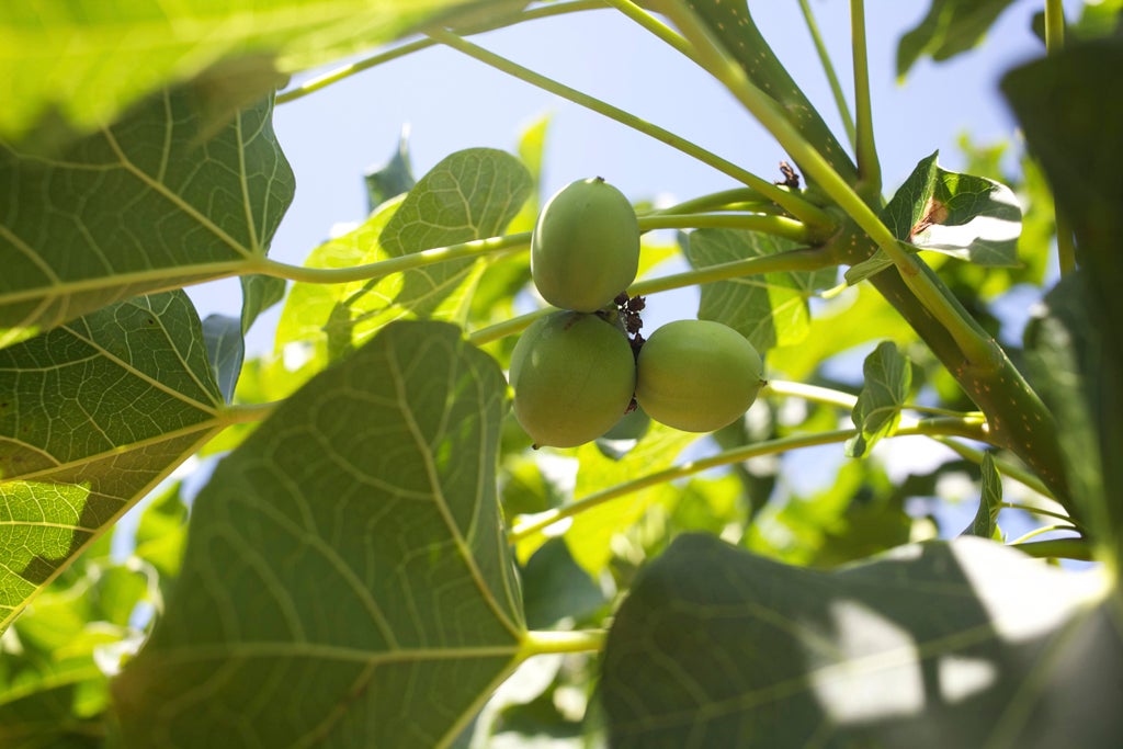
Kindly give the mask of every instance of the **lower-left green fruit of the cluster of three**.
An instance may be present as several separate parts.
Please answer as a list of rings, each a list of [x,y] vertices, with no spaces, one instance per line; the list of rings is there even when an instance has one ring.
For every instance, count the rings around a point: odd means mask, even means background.
[[[555,312],[511,353],[514,417],[536,447],[576,447],[620,420],[636,389],[628,338],[595,314]]]

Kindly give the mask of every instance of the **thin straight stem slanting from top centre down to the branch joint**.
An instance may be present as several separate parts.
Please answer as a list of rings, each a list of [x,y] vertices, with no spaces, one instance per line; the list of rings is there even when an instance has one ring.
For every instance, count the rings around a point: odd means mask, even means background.
[[[600,99],[577,91],[576,89],[572,89],[563,83],[558,83],[554,79],[536,73],[505,57],[484,49],[483,47],[475,45],[467,39],[453,34],[451,31],[433,30],[430,31],[429,35],[437,42],[462,52],[469,57],[478,60],[495,70],[506,73],[508,75],[517,77],[521,81],[526,81],[531,85],[542,89],[544,91],[568,99],[576,104],[613,119],[621,125],[627,125],[630,128],[633,128],[651,138],[655,138],[656,140],[659,140],[660,143],[665,143],[668,146],[696,158],[703,164],[712,166],[723,174],[728,174],[738,182],[752,188],[754,190],[766,195],[773,202],[782,205],[792,216],[807,225],[807,227],[815,232],[816,237],[825,238],[833,234],[837,228],[834,220],[818,205],[807,202],[793,192],[778,188],[767,180],[741,168],[732,162],[721,158],[716,154],[702,148],[682,136],[675,135],[669,130],[658,127],[657,125],[652,125],[647,120],[640,119],[639,117],[636,117],[631,112],[624,111],[619,107],[613,107],[608,102],[601,101]]]

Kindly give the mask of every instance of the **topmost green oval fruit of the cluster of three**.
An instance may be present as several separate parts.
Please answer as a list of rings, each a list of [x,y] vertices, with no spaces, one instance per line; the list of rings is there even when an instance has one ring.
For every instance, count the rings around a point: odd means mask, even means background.
[[[542,207],[530,239],[530,274],[550,304],[595,312],[627,289],[638,270],[636,211],[601,177],[572,182]]]

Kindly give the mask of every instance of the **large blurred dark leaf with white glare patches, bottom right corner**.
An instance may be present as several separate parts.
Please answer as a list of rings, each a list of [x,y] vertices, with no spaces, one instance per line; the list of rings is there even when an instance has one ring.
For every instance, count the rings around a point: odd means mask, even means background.
[[[970,537],[827,573],[683,536],[609,633],[610,743],[1107,749],[1104,582]]]

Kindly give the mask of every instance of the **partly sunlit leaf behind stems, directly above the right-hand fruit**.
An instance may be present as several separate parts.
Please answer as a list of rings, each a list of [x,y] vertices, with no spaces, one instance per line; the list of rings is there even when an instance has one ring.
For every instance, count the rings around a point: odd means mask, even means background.
[[[686,254],[703,268],[720,263],[764,257],[792,249],[787,239],[755,231],[699,229],[691,232]],[[815,289],[834,282],[834,268],[814,273],[766,273],[702,286],[699,318],[733,328],[760,351],[794,346],[811,327],[807,300]]]

